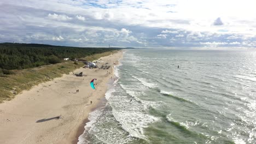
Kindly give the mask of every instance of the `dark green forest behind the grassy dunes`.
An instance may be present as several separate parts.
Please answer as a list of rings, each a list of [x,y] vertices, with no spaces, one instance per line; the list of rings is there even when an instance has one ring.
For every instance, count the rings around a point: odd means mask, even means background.
[[[39,67],[60,63],[63,58],[82,58],[112,50],[116,49],[0,43],[0,68],[10,70]]]

